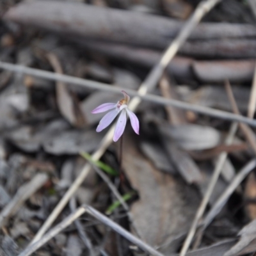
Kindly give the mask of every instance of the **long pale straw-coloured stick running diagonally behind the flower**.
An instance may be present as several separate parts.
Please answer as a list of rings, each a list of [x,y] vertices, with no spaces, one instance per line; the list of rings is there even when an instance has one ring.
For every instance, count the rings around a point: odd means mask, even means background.
[[[202,19],[205,13],[209,12],[209,10],[211,10],[211,8],[213,8],[214,5],[219,2],[220,0],[207,0],[198,5],[198,7],[195,10],[195,13],[193,13],[193,15],[188,20],[188,22],[186,22],[186,24],[180,31],[179,35],[177,36],[177,38],[173,40],[172,44],[170,44],[170,47],[168,47],[166,52],[164,52],[163,57],[161,58],[159,63],[157,63],[157,65],[148,74],[145,81],[141,84],[138,90],[138,94],[140,96],[145,95],[148,91],[152,90],[156,86],[156,84],[158,83],[159,79],[161,78],[164,72],[164,69],[167,67],[168,63],[172,60],[173,56],[175,56],[180,46],[189,37],[189,35],[191,34],[191,31],[196,27],[196,25]],[[0,63],[0,67],[1,66],[3,67],[3,63]],[[63,75],[54,74],[54,76],[61,77]],[[79,78],[76,78],[76,79],[81,81],[81,79]],[[97,83],[94,83],[94,84],[97,84]],[[134,111],[137,108],[138,104],[140,104],[140,102],[141,102],[140,97],[134,97],[129,103],[129,108],[131,109],[131,111]],[[112,125],[112,127],[109,129],[107,134],[104,136],[99,149],[93,154],[92,156],[93,160],[99,160],[99,158],[104,154],[106,148],[108,148],[109,145],[112,143],[114,129],[115,129],[115,125]],[[90,171],[90,164],[86,164],[84,168],[81,170],[80,174],[77,176],[76,180],[74,180],[74,183],[70,186],[68,191],[65,193],[63,198],[61,198],[59,204],[52,211],[49,218],[45,221],[44,225],[40,228],[40,230],[34,237],[32,243],[35,243],[36,241],[38,241],[38,239],[40,239],[45,234],[46,230],[52,225],[53,221],[56,220],[56,218],[58,217],[60,212],[63,210],[65,205],[67,205],[72,195],[74,195],[74,193],[77,191],[79,186],[82,184],[83,180],[86,178],[89,171]]]

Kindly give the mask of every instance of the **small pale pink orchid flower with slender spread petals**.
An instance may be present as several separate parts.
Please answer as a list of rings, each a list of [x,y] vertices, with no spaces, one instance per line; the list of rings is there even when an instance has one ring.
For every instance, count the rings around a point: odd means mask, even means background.
[[[99,107],[93,109],[93,111],[92,111],[93,114],[97,114],[97,113],[102,113],[102,112],[108,111],[110,109],[113,109],[113,110],[109,111],[108,113],[106,113],[106,115],[104,115],[102,117],[102,119],[100,120],[99,125],[96,129],[97,132],[101,132],[103,129],[108,127],[108,125],[111,124],[113,122],[113,120],[116,118],[116,116],[121,112],[121,114],[118,118],[118,121],[116,123],[113,141],[118,141],[118,139],[124,133],[124,129],[125,129],[126,121],[127,121],[126,114],[129,115],[129,118],[131,120],[132,129],[134,130],[134,132],[136,132],[136,134],[139,134],[139,129],[140,129],[140,124],[139,124],[139,120],[138,120],[137,116],[130,109],[128,109],[128,106],[127,106],[128,102],[130,100],[130,97],[129,97],[129,95],[127,95],[126,92],[122,91],[122,93],[124,94],[124,99],[119,100],[116,104],[115,103],[104,103],[104,104],[100,105]]]

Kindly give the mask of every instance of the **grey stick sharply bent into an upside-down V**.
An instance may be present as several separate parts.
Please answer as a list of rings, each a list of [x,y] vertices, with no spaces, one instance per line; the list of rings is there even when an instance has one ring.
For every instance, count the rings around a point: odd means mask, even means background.
[[[133,236],[131,233],[129,233],[124,228],[120,227],[120,225],[116,224],[113,220],[110,220],[108,217],[104,216],[97,210],[93,209],[93,207],[83,205],[79,207],[76,212],[70,214],[67,218],[65,218],[63,221],[61,221],[60,224],[56,225],[56,227],[52,228],[47,234],[45,234],[42,239],[37,241],[36,243],[31,244],[26,250],[21,252],[19,256],[29,256],[33,252],[35,252],[38,248],[43,246],[47,241],[49,241],[52,237],[56,236],[58,233],[60,233],[63,229],[68,227],[72,222],[77,220],[84,212],[88,212],[91,216],[99,220],[100,222],[104,223],[108,227],[115,230],[118,234],[125,237],[127,240],[129,240],[131,243],[136,244],[141,250],[149,253],[150,255],[154,256],[164,256],[162,253],[157,252],[154,248],[152,248],[150,245],[146,244],[145,242],[141,241],[137,237]]]

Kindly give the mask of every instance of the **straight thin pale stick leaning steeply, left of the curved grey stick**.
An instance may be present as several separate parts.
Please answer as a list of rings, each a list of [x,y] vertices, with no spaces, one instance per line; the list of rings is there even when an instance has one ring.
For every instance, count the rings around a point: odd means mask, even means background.
[[[228,132],[228,136],[225,140],[225,144],[230,145],[232,143],[232,141],[234,140],[236,131],[237,131],[237,127],[238,127],[237,123],[233,123],[231,125],[230,130]],[[188,252],[189,245],[191,244],[193,236],[195,235],[196,228],[198,227],[198,223],[204,214],[205,208],[207,207],[209,199],[212,195],[212,191],[216,185],[216,182],[218,181],[221,170],[223,168],[223,164],[225,163],[226,159],[227,159],[227,152],[222,152],[218,157],[218,161],[214,168],[214,172],[212,174],[209,185],[207,187],[207,191],[205,192],[204,198],[202,199],[202,202],[201,202],[200,206],[198,207],[198,210],[196,211],[196,216],[195,216],[193,223],[191,225],[191,228],[188,232],[188,236],[186,237],[186,240],[182,246],[182,249],[180,251],[180,256],[184,256],[184,255],[186,255],[186,252]]]

